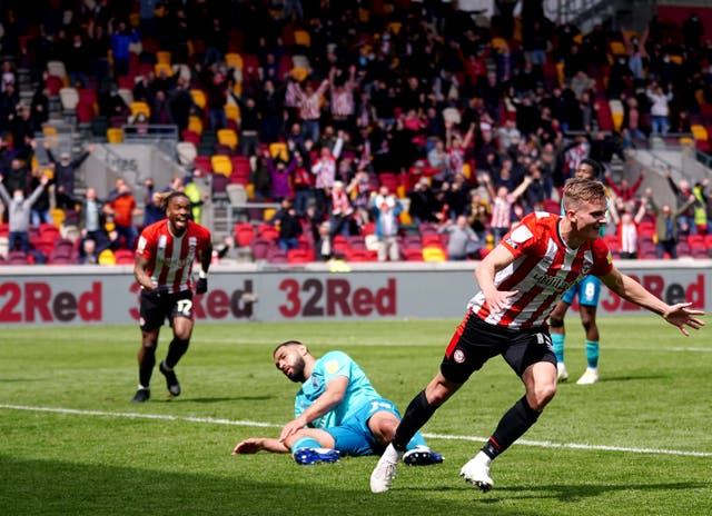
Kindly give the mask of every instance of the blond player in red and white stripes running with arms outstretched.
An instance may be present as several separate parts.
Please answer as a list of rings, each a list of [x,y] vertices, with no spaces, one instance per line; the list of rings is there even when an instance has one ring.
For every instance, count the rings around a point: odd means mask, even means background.
[[[556,357],[546,319],[561,296],[587,275],[600,277],[623,299],[651,310],[689,335],[704,322],[690,302],[657,299],[619,271],[599,236],[606,194],[597,181],[572,178],[564,186],[563,216],[524,217],[475,270],[479,284],[449,341],[439,371],[408,405],[403,420],[370,476],[370,489],[390,488],[406,443],[469,376],[501,355],[520,376],[526,394],[507,410],[482,450],[459,474],[483,492],[492,488],[490,464],[538,418],[556,393]]]

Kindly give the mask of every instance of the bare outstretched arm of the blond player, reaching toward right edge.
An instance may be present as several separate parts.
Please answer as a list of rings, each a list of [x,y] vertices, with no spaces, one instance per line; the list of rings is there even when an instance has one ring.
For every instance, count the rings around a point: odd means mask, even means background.
[[[692,306],[691,302],[668,305],[663,300],[653,296],[653,294],[633,278],[622,274],[615,267],[609,275],[601,279],[606,287],[623,299],[657,314],[671,325],[680,328],[680,331],[685,336],[690,335],[688,328],[700,329],[704,326],[704,321],[695,317],[704,315],[704,311],[690,309],[690,306]]]

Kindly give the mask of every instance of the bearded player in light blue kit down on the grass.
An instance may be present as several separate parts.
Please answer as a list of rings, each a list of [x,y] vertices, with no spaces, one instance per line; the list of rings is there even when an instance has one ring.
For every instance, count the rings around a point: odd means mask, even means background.
[[[275,366],[301,388],[295,398],[295,419],[278,439],[251,437],[238,443],[233,455],[260,450],[291,453],[297,464],[334,463],[340,456],[380,455],[390,443],[400,415],[382,398],[364,370],[343,351],[317,359],[307,347],[288,340],[277,346]],[[443,462],[416,433],[406,445],[403,462],[427,466]]]

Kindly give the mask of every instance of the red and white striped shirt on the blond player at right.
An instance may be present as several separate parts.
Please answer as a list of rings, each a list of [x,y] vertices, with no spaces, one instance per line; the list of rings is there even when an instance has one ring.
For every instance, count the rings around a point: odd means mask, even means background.
[[[558,215],[534,212],[522,219],[502,239],[514,255],[514,261],[500,270],[494,279],[498,290],[518,290],[502,311],[490,310],[482,291],[468,309],[485,322],[510,329],[546,326],[558,299],[573,285],[589,275],[605,276],[613,265],[602,238],[572,249],[558,234]]]

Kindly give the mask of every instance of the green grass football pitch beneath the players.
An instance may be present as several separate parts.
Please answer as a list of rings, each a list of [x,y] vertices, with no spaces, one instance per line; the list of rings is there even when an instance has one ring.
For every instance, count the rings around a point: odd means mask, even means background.
[[[403,411],[458,322],[198,322],[176,369],[182,395],[168,399],[156,369],[142,405],[129,403],[137,327],[0,328],[0,514],[712,514],[712,328],[685,338],[654,316],[600,321],[592,386],[575,385],[583,331],[567,318],[570,380],[493,463],[487,494],[458,472],[523,394],[501,358],[423,428],[445,462],[402,466],[388,493],[369,492],[375,457],[298,466],[287,455],[230,455],[291,419],[298,386],[273,365],[277,344],[348,353]],[[169,340],[164,328],[159,358]]]

